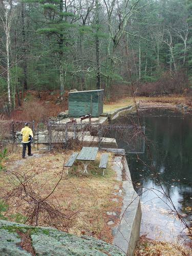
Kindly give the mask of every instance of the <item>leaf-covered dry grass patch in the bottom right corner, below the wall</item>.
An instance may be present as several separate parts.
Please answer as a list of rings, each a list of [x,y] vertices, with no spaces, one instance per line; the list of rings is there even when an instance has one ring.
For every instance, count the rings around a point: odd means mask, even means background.
[[[142,236],[135,250],[135,256],[190,256],[191,249],[179,244],[159,242]]]

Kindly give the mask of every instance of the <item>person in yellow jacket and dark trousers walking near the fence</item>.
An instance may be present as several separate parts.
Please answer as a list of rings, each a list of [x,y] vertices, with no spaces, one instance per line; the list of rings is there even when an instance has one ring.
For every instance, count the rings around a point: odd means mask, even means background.
[[[31,142],[33,141],[33,132],[29,128],[29,123],[25,123],[25,127],[22,128],[20,132],[22,134],[22,142],[23,142],[23,158],[25,158],[26,148],[28,146],[28,156],[32,156],[31,154]]]

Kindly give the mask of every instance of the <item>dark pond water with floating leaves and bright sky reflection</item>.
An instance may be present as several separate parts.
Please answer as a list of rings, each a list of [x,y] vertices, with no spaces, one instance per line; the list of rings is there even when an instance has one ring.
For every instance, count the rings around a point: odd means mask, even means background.
[[[174,207],[192,224],[192,115],[156,109],[141,111],[140,120],[145,125],[145,152],[127,154],[127,162],[141,199],[141,235],[176,242],[185,231]],[[133,121],[137,117],[129,115],[115,123]]]

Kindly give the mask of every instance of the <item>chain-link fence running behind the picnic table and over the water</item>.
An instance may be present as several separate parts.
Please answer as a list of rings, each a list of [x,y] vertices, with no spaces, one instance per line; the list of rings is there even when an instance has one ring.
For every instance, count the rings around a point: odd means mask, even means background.
[[[20,130],[24,122],[10,121],[7,131],[13,146],[21,143]],[[126,153],[144,153],[145,127],[131,125],[104,125],[88,123],[29,123],[33,130],[33,146],[46,145],[50,150],[58,145],[62,148],[73,146],[98,146],[101,148],[123,148]]]

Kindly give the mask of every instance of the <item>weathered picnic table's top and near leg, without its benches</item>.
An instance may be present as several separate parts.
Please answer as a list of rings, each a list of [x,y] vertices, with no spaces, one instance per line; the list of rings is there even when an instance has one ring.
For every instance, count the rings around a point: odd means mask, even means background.
[[[98,152],[98,147],[83,146],[76,160],[83,161],[84,171],[88,173],[87,167],[90,161],[94,161]]]

